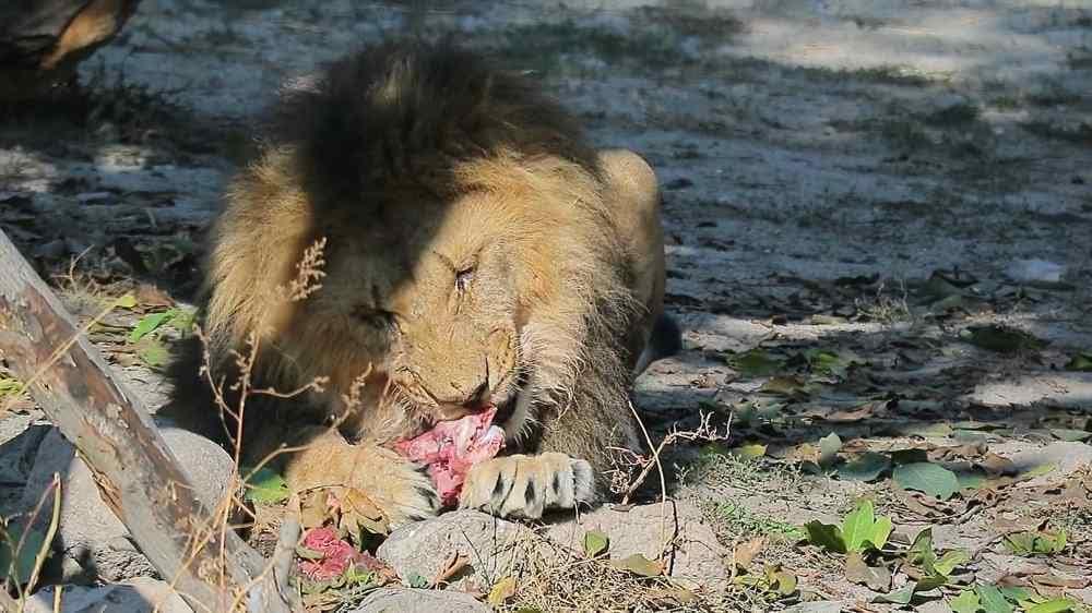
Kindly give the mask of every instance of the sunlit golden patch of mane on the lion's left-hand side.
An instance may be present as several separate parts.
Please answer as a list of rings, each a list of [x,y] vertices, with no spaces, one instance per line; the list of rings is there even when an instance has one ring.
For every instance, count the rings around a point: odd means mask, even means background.
[[[205,325],[222,348],[285,323],[283,288],[313,235],[312,207],[290,151],[271,149],[229,185],[206,262]]]

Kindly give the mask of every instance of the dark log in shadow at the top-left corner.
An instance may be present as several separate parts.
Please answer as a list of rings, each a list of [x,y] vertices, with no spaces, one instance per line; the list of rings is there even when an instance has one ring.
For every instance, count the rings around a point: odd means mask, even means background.
[[[37,98],[69,82],[109,43],[140,0],[0,2],[0,100]]]

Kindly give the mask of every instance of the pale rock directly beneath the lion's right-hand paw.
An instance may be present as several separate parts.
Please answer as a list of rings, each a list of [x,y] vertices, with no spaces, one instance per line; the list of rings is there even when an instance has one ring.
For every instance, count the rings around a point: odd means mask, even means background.
[[[579,518],[550,525],[546,536],[554,542],[575,551],[583,550],[584,534],[598,530],[610,539],[610,557],[622,558],[634,553],[655,560],[667,541],[677,543],[670,576],[691,589],[723,590],[728,574],[721,562],[723,548],[716,534],[701,522],[701,512],[682,501],[648,504],[616,510],[601,506]]]

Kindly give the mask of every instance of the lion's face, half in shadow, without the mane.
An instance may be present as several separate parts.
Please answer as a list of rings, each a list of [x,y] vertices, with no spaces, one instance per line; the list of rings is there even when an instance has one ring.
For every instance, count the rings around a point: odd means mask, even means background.
[[[500,203],[417,202],[379,227],[328,226],[323,289],[306,306],[353,360],[387,373],[404,408],[456,419],[509,402],[520,380],[520,279]],[[346,364],[347,365],[347,364]],[[348,374],[348,373],[346,373]]]

